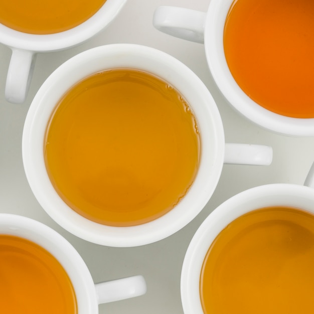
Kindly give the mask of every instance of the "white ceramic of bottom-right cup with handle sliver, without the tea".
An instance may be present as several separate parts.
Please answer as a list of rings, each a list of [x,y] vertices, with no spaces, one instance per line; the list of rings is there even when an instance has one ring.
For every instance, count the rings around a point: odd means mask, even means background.
[[[304,186],[268,184],[241,192],[218,206],[201,224],[187,249],[181,272],[185,314],[203,314],[200,277],[206,253],[217,235],[236,218],[273,206],[294,207],[314,214],[314,164]],[[262,298],[262,296],[261,296]]]

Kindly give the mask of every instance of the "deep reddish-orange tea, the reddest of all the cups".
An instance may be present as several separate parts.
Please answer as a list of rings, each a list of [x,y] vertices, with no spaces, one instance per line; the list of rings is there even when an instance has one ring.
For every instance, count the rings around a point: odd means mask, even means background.
[[[235,0],[224,29],[224,50],[235,81],[275,113],[314,117],[314,2]]]

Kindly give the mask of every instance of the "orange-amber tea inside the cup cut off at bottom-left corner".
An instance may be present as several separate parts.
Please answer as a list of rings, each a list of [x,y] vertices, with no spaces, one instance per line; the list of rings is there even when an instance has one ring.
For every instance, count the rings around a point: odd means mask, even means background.
[[[11,235],[0,235],[0,313],[77,313],[72,283],[56,258]]]

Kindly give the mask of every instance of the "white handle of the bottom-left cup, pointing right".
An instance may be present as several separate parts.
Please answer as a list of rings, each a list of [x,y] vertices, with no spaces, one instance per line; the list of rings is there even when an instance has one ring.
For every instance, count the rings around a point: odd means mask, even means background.
[[[146,282],[143,276],[132,276],[95,284],[98,304],[108,303],[146,293]]]

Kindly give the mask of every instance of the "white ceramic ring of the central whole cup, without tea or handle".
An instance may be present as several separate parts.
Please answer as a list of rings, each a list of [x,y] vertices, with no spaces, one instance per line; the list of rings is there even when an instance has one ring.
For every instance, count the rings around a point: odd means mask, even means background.
[[[216,188],[222,169],[224,154],[224,134],[221,118],[209,91],[204,84],[198,82],[199,78],[192,80],[195,74],[191,70],[182,66],[179,61],[174,61],[172,57],[165,57],[166,55],[162,52],[150,49],[145,52],[144,48],[138,48],[136,45],[126,45],[124,48],[125,49],[122,48],[119,50],[115,45],[111,45],[110,47],[92,49],[72,58],[57,69],[47,79],[34,98],[28,114],[30,121],[28,121],[28,119],[26,120],[28,126],[25,128],[24,134],[28,137],[28,139],[24,139],[25,141],[31,140],[31,146],[26,147],[25,145],[23,149],[24,159],[26,161],[25,165],[27,166],[26,173],[32,190],[42,207],[51,214],[52,218],[61,225],[66,224],[66,226],[64,226],[65,229],[69,230],[70,228],[70,232],[79,234],[79,236],[82,236],[82,233],[85,232],[89,233],[89,236],[91,236],[91,233],[94,234],[93,237],[101,237],[104,236],[104,234],[110,237],[110,234],[115,232],[113,237],[116,238],[117,242],[115,245],[117,246],[121,245],[119,245],[119,242],[121,242],[119,237],[125,239],[127,234],[119,228],[109,228],[109,226],[99,225],[74,213],[74,211],[65,206],[63,201],[58,197],[46,173],[43,158],[46,125],[55,104],[69,87],[78,80],[102,70],[134,68],[161,77],[182,92],[190,105],[192,103],[192,110],[200,125],[202,157],[199,166],[199,175],[190,189],[191,193],[189,192],[174,210],[160,219],[135,227],[123,227],[124,231],[125,228],[129,228],[128,230],[140,229],[142,233],[149,234],[153,233],[151,228],[160,229],[160,226],[163,225],[163,237],[166,237],[181,229],[197,214],[191,209],[189,211],[184,210],[184,207],[199,207],[202,209]],[[142,49],[144,53],[141,52]],[[177,72],[177,70],[180,71]],[[186,76],[188,76],[188,78],[182,80],[182,77]],[[192,87],[192,85],[197,87]],[[194,88],[196,90],[194,90]],[[43,103],[45,103],[45,105],[42,105]],[[32,117],[33,115],[34,117]],[[208,121],[208,119],[210,121]],[[27,153],[26,150],[28,151]],[[32,154],[31,157],[29,155],[30,153]],[[31,170],[30,164],[32,164]],[[43,190],[46,195],[43,194]],[[197,197],[195,197],[196,193],[198,194]],[[200,197],[200,195],[202,196]],[[197,203],[200,204],[198,205]],[[51,204],[55,205],[52,206]],[[58,212],[56,208],[62,208],[62,210]],[[177,226],[177,229],[174,231],[173,228],[176,223],[180,224],[180,227]],[[81,228],[80,226],[84,227]],[[141,238],[139,234],[137,234],[136,237],[138,238],[136,242],[143,241],[143,239],[139,239]],[[156,237],[156,235],[154,235],[154,237]],[[159,235],[159,237],[162,236]],[[96,241],[95,238],[93,238],[92,242],[94,241]]]

